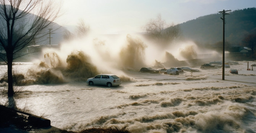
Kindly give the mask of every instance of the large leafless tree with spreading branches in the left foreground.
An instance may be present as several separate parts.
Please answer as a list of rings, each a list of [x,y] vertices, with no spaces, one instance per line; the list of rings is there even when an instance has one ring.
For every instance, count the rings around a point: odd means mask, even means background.
[[[8,65],[8,97],[14,95],[12,63],[24,47],[48,34],[60,8],[52,0],[0,0],[0,58]]]

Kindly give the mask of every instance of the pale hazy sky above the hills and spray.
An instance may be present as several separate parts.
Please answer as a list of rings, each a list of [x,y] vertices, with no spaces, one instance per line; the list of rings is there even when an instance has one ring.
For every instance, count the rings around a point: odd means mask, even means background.
[[[83,19],[97,33],[143,32],[158,14],[167,24],[180,24],[223,9],[256,7],[256,0],[62,0],[58,23],[77,25]],[[220,15],[221,17],[221,15]],[[221,20],[220,20],[221,21]]]

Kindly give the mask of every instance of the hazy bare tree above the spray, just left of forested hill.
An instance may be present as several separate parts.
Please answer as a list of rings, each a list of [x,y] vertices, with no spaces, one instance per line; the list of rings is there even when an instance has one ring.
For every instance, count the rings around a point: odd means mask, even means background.
[[[156,19],[150,19],[146,24],[146,32],[153,37],[159,38],[165,25],[165,21],[162,20],[162,16],[159,14]]]

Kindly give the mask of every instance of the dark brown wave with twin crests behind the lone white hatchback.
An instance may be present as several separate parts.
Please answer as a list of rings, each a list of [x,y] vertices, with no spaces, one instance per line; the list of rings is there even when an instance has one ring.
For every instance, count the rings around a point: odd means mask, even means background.
[[[63,84],[69,81],[86,81],[87,78],[99,74],[96,66],[91,63],[90,57],[82,51],[71,52],[66,58],[66,65],[55,52],[46,53],[44,58],[44,62],[41,61],[39,65],[29,68],[26,74],[14,75],[16,85]],[[7,81],[7,76],[4,76],[4,78],[1,80]]]

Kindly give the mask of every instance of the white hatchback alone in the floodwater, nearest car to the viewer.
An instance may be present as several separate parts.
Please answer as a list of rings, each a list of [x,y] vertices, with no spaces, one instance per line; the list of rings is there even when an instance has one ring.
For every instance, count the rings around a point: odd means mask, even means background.
[[[122,84],[121,79],[114,75],[114,74],[99,74],[96,75],[94,78],[89,78],[86,81],[87,84],[89,84],[90,86],[92,85],[106,85],[108,87],[111,86],[119,86],[120,84]]]

